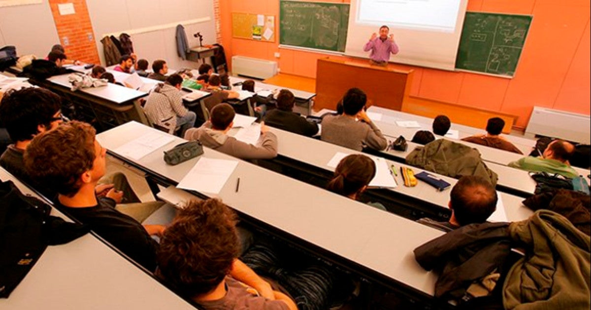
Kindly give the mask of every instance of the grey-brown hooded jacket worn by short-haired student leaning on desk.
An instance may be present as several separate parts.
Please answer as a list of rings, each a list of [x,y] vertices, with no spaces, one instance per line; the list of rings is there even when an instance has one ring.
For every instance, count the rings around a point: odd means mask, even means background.
[[[203,146],[241,159],[271,159],[277,156],[277,136],[272,132],[261,133],[255,145],[236,140],[219,130],[211,129],[209,120],[199,128],[185,132],[187,140],[199,140]]]

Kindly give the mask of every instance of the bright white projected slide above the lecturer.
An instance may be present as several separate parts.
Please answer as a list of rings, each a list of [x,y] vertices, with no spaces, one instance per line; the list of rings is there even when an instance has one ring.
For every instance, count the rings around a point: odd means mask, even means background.
[[[359,0],[356,22],[454,32],[460,0]]]

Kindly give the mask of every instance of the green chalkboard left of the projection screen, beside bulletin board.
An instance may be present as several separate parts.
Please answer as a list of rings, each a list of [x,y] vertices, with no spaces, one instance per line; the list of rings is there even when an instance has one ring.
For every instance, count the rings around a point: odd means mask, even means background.
[[[281,1],[280,44],[345,51],[349,4]]]

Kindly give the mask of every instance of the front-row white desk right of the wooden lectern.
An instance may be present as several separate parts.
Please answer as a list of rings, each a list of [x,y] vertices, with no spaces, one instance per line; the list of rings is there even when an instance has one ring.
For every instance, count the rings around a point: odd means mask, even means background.
[[[399,133],[399,135],[404,135],[405,138],[407,138],[408,140],[413,138],[414,133],[418,130],[432,130],[431,127],[433,125],[433,119],[427,118],[425,116],[414,115],[402,111],[395,111],[378,106],[369,107],[368,112],[381,114],[382,120],[380,121],[380,123],[389,123],[391,125],[394,125],[397,128],[396,131],[401,132]],[[414,120],[418,122],[419,125],[421,125],[421,128],[403,128],[396,125],[396,122],[401,120]],[[484,129],[473,128],[470,126],[460,125],[456,123],[452,123],[451,129],[458,130],[460,139],[466,138],[468,136],[482,135],[486,133],[486,130]],[[515,146],[517,146],[518,149],[520,149],[526,155],[529,154],[531,152],[531,149],[535,146],[535,141],[532,139],[520,138],[511,135],[503,136],[504,138],[511,141]]]

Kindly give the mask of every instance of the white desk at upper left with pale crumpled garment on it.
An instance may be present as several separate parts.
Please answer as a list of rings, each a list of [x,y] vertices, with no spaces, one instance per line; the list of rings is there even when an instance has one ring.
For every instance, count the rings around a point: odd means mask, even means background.
[[[68,81],[68,76],[70,74],[62,74],[60,76],[52,76],[48,81],[51,83],[64,86],[64,87],[72,87],[72,84]],[[141,98],[146,96],[148,93],[139,92],[135,89],[130,89],[128,87],[119,86],[116,84],[108,83],[106,86],[101,87],[89,87],[80,89],[79,92],[87,93],[92,96],[99,97],[100,99],[108,100],[112,103],[124,103],[124,102],[132,102],[135,99]]]

